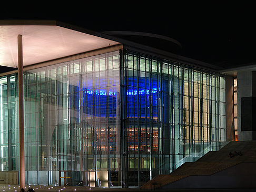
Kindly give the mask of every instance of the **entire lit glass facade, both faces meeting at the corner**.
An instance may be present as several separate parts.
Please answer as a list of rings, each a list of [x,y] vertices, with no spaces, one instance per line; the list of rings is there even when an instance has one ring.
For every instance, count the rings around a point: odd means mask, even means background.
[[[1,170],[18,170],[17,74],[0,78]],[[225,141],[225,79],[123,50],[24,72],[25,182],[140,186]]]

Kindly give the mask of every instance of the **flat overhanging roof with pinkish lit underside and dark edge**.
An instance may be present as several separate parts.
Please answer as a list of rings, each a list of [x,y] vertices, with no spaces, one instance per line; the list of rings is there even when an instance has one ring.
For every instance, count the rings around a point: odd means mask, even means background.
[[[44,63],[91,50],[123,48],[218,72],[222,67],[55,20],[0,20],[0,66],[17,68],[17,35],[23,35],[23,65]],[[164,48],[164,47],[163,47]],[[1,73],[1,72],[0,72]]]

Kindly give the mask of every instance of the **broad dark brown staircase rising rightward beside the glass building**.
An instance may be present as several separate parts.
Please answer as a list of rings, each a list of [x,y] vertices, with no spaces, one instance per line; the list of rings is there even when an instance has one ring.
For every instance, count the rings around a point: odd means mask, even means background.
[[[234,151],[242,155],[229,156]],[[256,141],[230,142],[219,151],[209,151],[195,162],[186,162],[170,175],[158,175],[144,184],[141,189],[157,189],[190,175],[212,175],[242,162],[256,162]]]

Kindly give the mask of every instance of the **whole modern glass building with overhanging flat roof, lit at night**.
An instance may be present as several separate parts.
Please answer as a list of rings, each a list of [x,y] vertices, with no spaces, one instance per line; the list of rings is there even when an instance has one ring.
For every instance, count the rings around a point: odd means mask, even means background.
[[[242,107],[255,103],[253,85],[242,81],[237,105],[233,99],[234,77],[254,83],[254,72],[234,75],[171,53],[167,48],[179,49],[179,42],[159,35],[1,21],[0,65],[13,67],[0,74],[2,173],[20,170],[17,35],[23,37],[25,184],[141,186],[218,150],[237,132],[238,139],[254,138]],[[248,86],[253,93],[240,99]],[[244,113],[234,117],[235,106]],[[246,133],[239,124],[234,131],[234,120],[248,125]]]

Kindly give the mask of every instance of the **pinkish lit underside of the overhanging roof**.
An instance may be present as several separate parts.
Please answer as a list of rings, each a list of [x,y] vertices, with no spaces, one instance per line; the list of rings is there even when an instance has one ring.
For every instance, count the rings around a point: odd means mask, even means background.
[[[23,65],[120,44],[55,25],[0,25],[0,65],[17,68],[17,35],[23,36]]]

